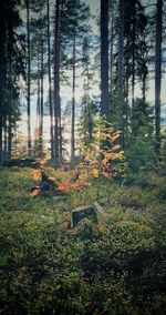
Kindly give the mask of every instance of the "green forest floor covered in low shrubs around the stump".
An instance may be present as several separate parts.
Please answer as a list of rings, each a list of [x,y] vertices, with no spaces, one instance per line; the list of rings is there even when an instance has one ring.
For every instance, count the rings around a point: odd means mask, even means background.
[[[166,179],[32,197],[32,172],[0,170],[0,314],[165,314]],[[71,211],[94,202],[97,223],[71,230]]]

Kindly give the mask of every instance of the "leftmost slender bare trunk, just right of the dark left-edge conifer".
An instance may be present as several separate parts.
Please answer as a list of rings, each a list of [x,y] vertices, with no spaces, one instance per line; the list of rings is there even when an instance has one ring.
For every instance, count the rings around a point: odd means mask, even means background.
[[[31,51],[30,51],[30,2],[27,0],[27,45],[28,45],[28,155],[31,156]]]

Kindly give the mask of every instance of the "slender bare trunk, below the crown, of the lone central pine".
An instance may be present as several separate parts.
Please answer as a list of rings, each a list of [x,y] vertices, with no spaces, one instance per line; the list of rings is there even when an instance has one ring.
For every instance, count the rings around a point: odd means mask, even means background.
[[[75,30],[73,37],[73,85],[72,85],[72,128],[71,128],[71,161],[75,155]]]

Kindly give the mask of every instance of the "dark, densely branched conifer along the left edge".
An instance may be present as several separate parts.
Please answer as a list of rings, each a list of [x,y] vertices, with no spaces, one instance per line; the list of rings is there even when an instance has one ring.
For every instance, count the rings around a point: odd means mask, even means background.
[[[18,31],[19,3],[0,2],[0,164],[11,158],[13,130],[20,114],[18,79],[24,74],[24,37]]]

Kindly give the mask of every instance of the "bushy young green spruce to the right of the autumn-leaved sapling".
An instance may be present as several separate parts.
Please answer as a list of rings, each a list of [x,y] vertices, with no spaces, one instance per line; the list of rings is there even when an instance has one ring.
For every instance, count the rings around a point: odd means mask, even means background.
[[[126,158],[133,172],[149,170],[155,162],[153,116],[148,103],[137,99],[131,118]]]

